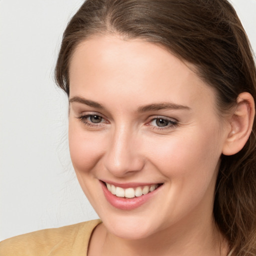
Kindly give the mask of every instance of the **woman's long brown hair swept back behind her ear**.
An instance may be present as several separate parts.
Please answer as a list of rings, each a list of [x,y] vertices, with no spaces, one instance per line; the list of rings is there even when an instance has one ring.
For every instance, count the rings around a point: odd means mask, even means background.
[[[116,33],[164,45],[196,66],[217,93],[219,112],[240,92],[256,99],[256,69],[239,18],[227,0],[86,0],[69,21],[55,79],[69,94],[68,66],[76,46],[95,34]],[[221,155],[213,215],[232,255],[256,255],[256,123],[242,150]]]

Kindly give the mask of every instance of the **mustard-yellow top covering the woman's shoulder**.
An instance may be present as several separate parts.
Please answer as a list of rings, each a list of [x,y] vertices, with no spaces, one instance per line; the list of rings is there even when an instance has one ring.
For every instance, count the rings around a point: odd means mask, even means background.
[[[86,255],[99,219],[17,235],[0,242],[0,256]]]

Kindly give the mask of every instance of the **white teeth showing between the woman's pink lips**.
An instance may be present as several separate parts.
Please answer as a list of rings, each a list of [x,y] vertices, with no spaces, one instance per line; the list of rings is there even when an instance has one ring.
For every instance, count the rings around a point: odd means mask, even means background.
[[[122,188],[119,186],[115,186],[113,184],[109,184],[107,182],[104,182],[104,183],[107,187],[107,190],[111,192],[111,194],[116,195],[118,197],[124,197],[124,198],[134,198],[134,197],[139,197],[139,196],[148,194],[163,184],[163,183],[158,183],[158,184],[150,184],[150,185],[143,185],[143,186],[137,186],[137,187]]]

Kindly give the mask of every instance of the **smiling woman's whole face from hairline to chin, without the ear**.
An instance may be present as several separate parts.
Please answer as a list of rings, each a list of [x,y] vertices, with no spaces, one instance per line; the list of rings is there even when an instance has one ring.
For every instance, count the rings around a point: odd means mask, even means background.
[[[213,89],[163,47],[114,35],[80,43],[69,77],[72,163],[108,231],[212,221],[226,136]]]

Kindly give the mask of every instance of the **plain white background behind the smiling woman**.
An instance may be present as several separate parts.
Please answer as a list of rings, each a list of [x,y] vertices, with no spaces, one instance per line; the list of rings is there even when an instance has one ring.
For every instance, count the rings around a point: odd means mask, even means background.
[[[53,81],[82,0],[0,0],[0,240],[97,218],[76,181],[67,98]],[[256,0],[232,0],[256,50]]]

